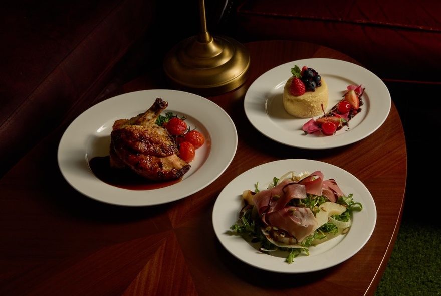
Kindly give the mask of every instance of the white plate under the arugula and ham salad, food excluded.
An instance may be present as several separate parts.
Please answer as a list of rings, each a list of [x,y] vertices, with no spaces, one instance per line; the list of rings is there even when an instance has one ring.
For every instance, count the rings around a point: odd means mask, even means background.
[[[363,210],[353,212],[352,226],[346,235],[341,235],[315,247],[309,248],[309,256],[302,253],[292,264],[285,262],[287,252],[264,254],[259,251],[260,243],[247,242],[233,234],[230,227],[238,222],[243,206],[242,192],[255,190],[256,182],[263,190],[273,177],[281,177],[289,171],[321,171],[325,179],[335,179],[343,193],[353,194]],[[280,273],[303,273],[317,271],[337,265],[356,254],[369,240],[376,224],[377,212],[372,195],[353,175],[336,166],[312,160],[288,159],[260,165],[232,180],[220,192],[213,208],[214,232],[220,243],[239,260],[267,271]]]

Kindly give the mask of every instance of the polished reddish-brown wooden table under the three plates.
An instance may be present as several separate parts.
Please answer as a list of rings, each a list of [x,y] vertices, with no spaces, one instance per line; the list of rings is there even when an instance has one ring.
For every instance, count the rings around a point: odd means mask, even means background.
[[[244,95],[265,71],[304,58],[342,53],[305,43],[246,44],[251,77],[236,91],[209,97],[238,130],[238,149],[227,170],[205,189],[158,206],[119,207],[87,198],[63,179],[57,164],[61,135],[83,109],[73,109],[0,180],[0,294],[2,295],[371,295],[390,257],[401,220],[407,156],[403,128],[392,104],[369,137],[336,149],[302,150],[271,141],[247,120]],[[168,88],[153,69],[107,97]],[[307,274],[255,269],[228,253],[214,235],[211,214],[220,191],[236,176],[267,162],[304,158],[355,175],[377,205],[367,244],[347,261]]]

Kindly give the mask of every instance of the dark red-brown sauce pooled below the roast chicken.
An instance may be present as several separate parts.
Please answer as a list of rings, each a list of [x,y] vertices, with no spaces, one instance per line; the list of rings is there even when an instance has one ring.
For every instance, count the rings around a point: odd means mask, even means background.
[[[115,169],[110,167],[110,156],[94,157],[89,161],[92,173],[109,185],[130,190],[152,190],[176,184],[182,180],[165,182],[149,181],[129,169]]]

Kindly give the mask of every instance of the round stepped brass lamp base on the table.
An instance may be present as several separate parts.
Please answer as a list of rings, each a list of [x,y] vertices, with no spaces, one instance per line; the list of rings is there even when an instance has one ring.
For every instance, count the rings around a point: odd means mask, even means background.
[[[177,89],[213,96],[241,86],[249,77],[250,55],[234,39],[201,32],[168,52],[164,71]]]

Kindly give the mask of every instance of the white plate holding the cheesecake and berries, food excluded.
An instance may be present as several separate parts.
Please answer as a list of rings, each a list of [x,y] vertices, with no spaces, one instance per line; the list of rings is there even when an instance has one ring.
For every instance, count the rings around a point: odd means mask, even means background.
[[[342,99],[348,85],[362,85],[362,112],[335,135],[321,132],[305,135],[303,124],[309,119],[295,118],[283,107],[283,87],[298,65],[313,68],[326,79],[329,88],[328,111]],[[358,65],[334,59],[304,59],[277,66],[256,79],[248,89],[244,107],[251,124],[262,134],[279,143],[304,149],[328,149],[359,141],[377,130],[389,115],[390,94],[372,72]],[[315,118],[318,118],[317,116]]]

